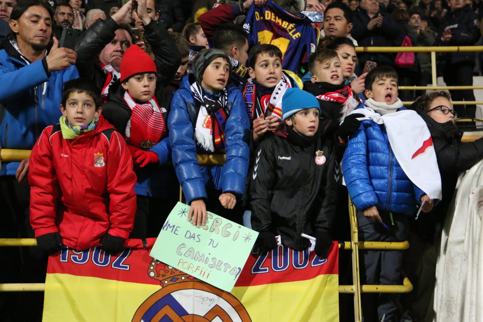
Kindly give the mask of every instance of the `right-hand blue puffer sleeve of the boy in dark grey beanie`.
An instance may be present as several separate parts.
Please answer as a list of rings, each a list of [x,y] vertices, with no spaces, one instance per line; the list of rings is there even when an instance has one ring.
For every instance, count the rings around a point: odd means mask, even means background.
[[[234,101],[225,126],[226,162],[223,167],[221,186],[224,193],[241,195],[245,189],[250,158],[250,148],[247,144],[250,140],[250,120],[241,91],[233,89],[230,96],[234,96]]]

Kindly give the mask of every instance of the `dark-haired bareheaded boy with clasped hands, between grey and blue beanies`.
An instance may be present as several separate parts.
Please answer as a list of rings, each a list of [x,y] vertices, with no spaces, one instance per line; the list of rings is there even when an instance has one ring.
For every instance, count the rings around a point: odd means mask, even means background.
[[[275,45],[255,45],[248,57],[248,74],[243,98],[253,125],[252,139],[260,142],[265,133],[281,129],[282,97],[287,88],[301,87],[301,81],[291,71],[282,70],[282,52]]]

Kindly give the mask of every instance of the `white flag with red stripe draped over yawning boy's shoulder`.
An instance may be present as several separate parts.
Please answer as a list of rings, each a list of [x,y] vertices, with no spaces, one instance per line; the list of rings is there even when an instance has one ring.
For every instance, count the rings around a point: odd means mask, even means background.
[[[356,113],[365,115],[357,118],[359,121],[384,124],[389,145],[409,180],[431,199],[441,200],[441,176],[433,139],[418,113],[403,110],[381,115],[369,107],[351,112]]]

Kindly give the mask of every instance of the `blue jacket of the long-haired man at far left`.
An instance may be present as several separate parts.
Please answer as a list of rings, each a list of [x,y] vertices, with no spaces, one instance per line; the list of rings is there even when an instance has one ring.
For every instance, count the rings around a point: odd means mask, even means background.
[[[79,73],[71,66],[47,74],[45,59],[27,65],[8,38],[1,49],[0,104],[5,116],[0,125],[0,146],[31,150],[43,129],[59,122],[62,85],[79,78]],[[15,175],[18,165],[2,164],[0,175]]]

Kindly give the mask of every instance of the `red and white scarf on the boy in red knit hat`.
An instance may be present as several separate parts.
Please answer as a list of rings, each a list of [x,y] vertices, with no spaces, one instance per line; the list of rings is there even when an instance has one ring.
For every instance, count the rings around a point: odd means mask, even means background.
[[[129,145],[149,150],[166,134],[163,111],[159,109],[154,96],[146,103],[139,104],[126,91],[124,100],[132,111],[126,126],[126,140]]]

